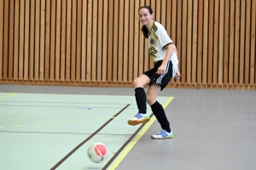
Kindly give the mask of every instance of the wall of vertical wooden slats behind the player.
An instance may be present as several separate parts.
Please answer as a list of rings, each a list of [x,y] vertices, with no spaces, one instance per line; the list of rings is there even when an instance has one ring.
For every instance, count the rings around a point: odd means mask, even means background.
[[[170,88],[255,89],[256,0],[0,0],[0,83],[131,87],[144,4],[177,46]]]

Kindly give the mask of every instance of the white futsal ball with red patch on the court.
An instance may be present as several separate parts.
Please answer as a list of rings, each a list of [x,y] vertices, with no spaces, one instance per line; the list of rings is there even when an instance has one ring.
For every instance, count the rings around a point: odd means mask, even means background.
[[[87,150],[87,156],[89,157],[90,161],[101,163],[108,157],[108,148],[105,144],[99,142],[91,144]]]

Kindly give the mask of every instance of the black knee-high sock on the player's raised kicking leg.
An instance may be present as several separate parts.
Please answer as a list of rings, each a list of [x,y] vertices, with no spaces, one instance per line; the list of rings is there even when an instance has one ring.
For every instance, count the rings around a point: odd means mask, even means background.
[[[146,94],[144,88],[135,88],[135,98],[139,113],[147,113]]]

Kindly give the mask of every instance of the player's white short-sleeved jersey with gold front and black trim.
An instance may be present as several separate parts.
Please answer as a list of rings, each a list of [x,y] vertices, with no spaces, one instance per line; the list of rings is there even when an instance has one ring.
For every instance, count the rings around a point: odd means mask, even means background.
[[[164,26],[154,21],[151,31],[148,33],[149,56],[153,62],[164,60],[166,57],[167,46],[172,44],[172,39],[168,36]],[[177,71],[177,54],[173,51],[170,58],[172,61],[172,77],[175,77]]]

